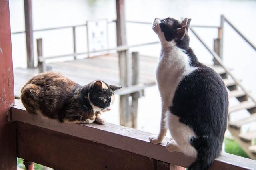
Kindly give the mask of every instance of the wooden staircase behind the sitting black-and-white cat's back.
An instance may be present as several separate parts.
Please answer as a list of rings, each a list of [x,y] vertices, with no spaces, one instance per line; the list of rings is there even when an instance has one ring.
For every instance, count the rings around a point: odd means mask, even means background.
[[[239,101],[238,105],[229,108],[229,117],[233,112],[240,110],[247,110],[250,113],[249,117],[240,119],[237,121],[228,122],[228,130],[231,132],[232,136],[238,144],[242,147],[246,154],[256,160],[256,130],[249,131],[246,133],[241,132],[241,127],[253,121],[256,121],[256,103],[244,88],[241,88],[240,83],[235,81],[232,76],[230,76],[226,69],[222,66],[211,66],[220,76],[222,77],[226,87],[229,90],[229,99],[236,98]]]

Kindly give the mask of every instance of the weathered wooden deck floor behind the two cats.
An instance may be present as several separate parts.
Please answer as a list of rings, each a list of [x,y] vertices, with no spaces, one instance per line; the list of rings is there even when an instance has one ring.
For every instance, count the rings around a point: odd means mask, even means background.
[[[152,85],[156,82],[155,70],[157,62],[157,57],[139,57],[139,83]],[[130,61],[130,63],[132,62]],[[100,55],[74,61],[49,63],[46,65],[47,67],[51,67],[52,71],[60,72],[62,75],[72,79],[80,85],[86,85],[96,79],[103,80],[108,84],[119,84],[120,78],[118,74],[117,54]],[[131,67],[130,71],[132,71]],[[14,93],[16,98],[20,97],[20,89],[22,86],[37,74],[38,68],[14,69]],[[120,93],[122,92],[120,91]]]

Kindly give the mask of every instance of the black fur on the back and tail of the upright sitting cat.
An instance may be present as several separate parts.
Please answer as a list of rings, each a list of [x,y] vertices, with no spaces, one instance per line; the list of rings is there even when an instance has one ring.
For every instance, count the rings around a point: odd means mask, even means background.
[[[220,75],[201,63],[196,66],[180,81],[170,106],[170,112],[196,134],[190,144],[198,151],[198,159],[190,167],[212,164],[219,156],[228,117],[228,92]],[[204,169],[200,166],[196,169]]]

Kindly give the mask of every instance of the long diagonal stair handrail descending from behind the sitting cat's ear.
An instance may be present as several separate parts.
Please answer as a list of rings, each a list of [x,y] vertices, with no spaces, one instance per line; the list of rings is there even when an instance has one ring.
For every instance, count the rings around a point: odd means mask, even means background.
[[[252,101],[256,104],[256,99],[254,99],[254,97],[252,97],[252,95],[249,94],[249,92],[244,88],[243,85],[241,85],[240,81],[238,79],[236,79],[236,77],[230,72],[230,70],[224,65],[222,59],[220,58],[220,56],[215,53],[214,51],[212,51],[210,49],[210,47],[208,47],[208,45],[206,45],[206,43],[202,40],[202,38],[200,38],[198,36],[198,34],[196,34],[195,30],[193,28],[190,28],[191,32],[196,36],[196,38],[198,38],[198,40],[204,45],[204,47],[212,54],[212,56],[220,63],[220,65],[223,67],[223,69],[226,71],[226,73],[228,73],[228,75],[230,75],[230,77],[232,77],[232,79],[235,81],[235,83],[240,86],[240,88],[244,91],[244,93],[246,94],[246,96],[250,97],[252,99]]]

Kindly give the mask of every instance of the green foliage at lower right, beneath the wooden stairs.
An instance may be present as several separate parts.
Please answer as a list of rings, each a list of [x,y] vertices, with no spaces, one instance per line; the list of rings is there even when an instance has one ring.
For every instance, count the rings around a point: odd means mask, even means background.
[[[236,143],[235,140],[226,139],[225,142],[225,152],[242,156],[244,158],[249,158],[249,156],[242,150],[242,148]]]

